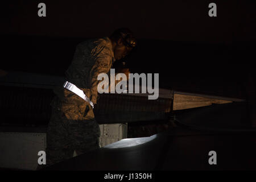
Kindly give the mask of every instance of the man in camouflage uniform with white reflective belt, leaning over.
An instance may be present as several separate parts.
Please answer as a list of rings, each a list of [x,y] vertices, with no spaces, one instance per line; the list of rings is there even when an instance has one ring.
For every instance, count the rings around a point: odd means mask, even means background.
[[[73,61],[65,76],[97,104],[97,85],[100,73],[109,73],[115,60],[125,57],[135,46],[127,28],[116,30],[110,38],[92,39],[76,47]],[[100,127],[94,119],[93,108],[77,94],[58,87],[54,90],[52,115],[47,131],[47,164],[72,158],[100,147]]]

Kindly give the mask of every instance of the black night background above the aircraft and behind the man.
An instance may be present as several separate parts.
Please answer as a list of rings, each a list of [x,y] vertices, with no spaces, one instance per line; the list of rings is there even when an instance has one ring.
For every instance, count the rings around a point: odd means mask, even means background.
[[[46,3],[46,17],[38,3]],[[64,76],[76,45],[129,27],[133,73],[160,88],[246,98],[255,77],[255,1],[10,1],[2,4],[1,69]],[[254,83],[254,81],[253,81]]]

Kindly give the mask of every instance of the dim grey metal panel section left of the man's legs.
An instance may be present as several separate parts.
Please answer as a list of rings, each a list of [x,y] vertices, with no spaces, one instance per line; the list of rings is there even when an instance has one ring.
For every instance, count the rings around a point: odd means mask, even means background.
[[[45,148],[44,133],[0,133],[0,167],[35,170]]]

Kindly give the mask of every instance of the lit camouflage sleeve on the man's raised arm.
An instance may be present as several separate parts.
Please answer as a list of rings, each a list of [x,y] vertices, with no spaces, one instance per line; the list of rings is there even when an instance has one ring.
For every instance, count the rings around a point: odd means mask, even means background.
[[[92,102],[97,104],[98,96],[98,83],[100,80],[97,80],[97,77],[100,73],[108,73],[112,66],[112,55],[109,47],[104,45],[98,45],[92,50],[92,56],[94,57],[95,64],[90,70],[90,81],[91,81],[91,93],[92,93]]]

